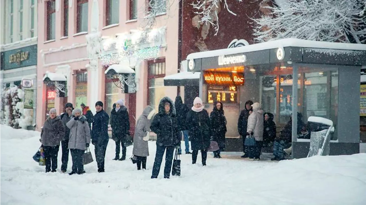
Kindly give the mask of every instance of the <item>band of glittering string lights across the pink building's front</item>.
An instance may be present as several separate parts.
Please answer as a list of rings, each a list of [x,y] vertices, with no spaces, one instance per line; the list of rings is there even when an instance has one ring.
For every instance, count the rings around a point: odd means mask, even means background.
[[[118,63],[123,59],[129,59],[129,58],[136,58],[139,60],[156,59],[159,58],[160,56],[159,53],[160,53],[160,46],[153,46],[138,49],[136,51],[106,54],[101,57],[101,64],[110,65],[113,63]]]

